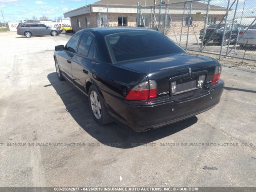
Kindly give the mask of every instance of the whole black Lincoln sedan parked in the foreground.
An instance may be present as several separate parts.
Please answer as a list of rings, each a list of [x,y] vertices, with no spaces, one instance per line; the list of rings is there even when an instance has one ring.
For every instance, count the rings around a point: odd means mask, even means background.
[[[145,28],[92,28],[55,47],[58,78],[88,96],[100,125],[159,128],[209,110],[224,82],[217,60]]]

